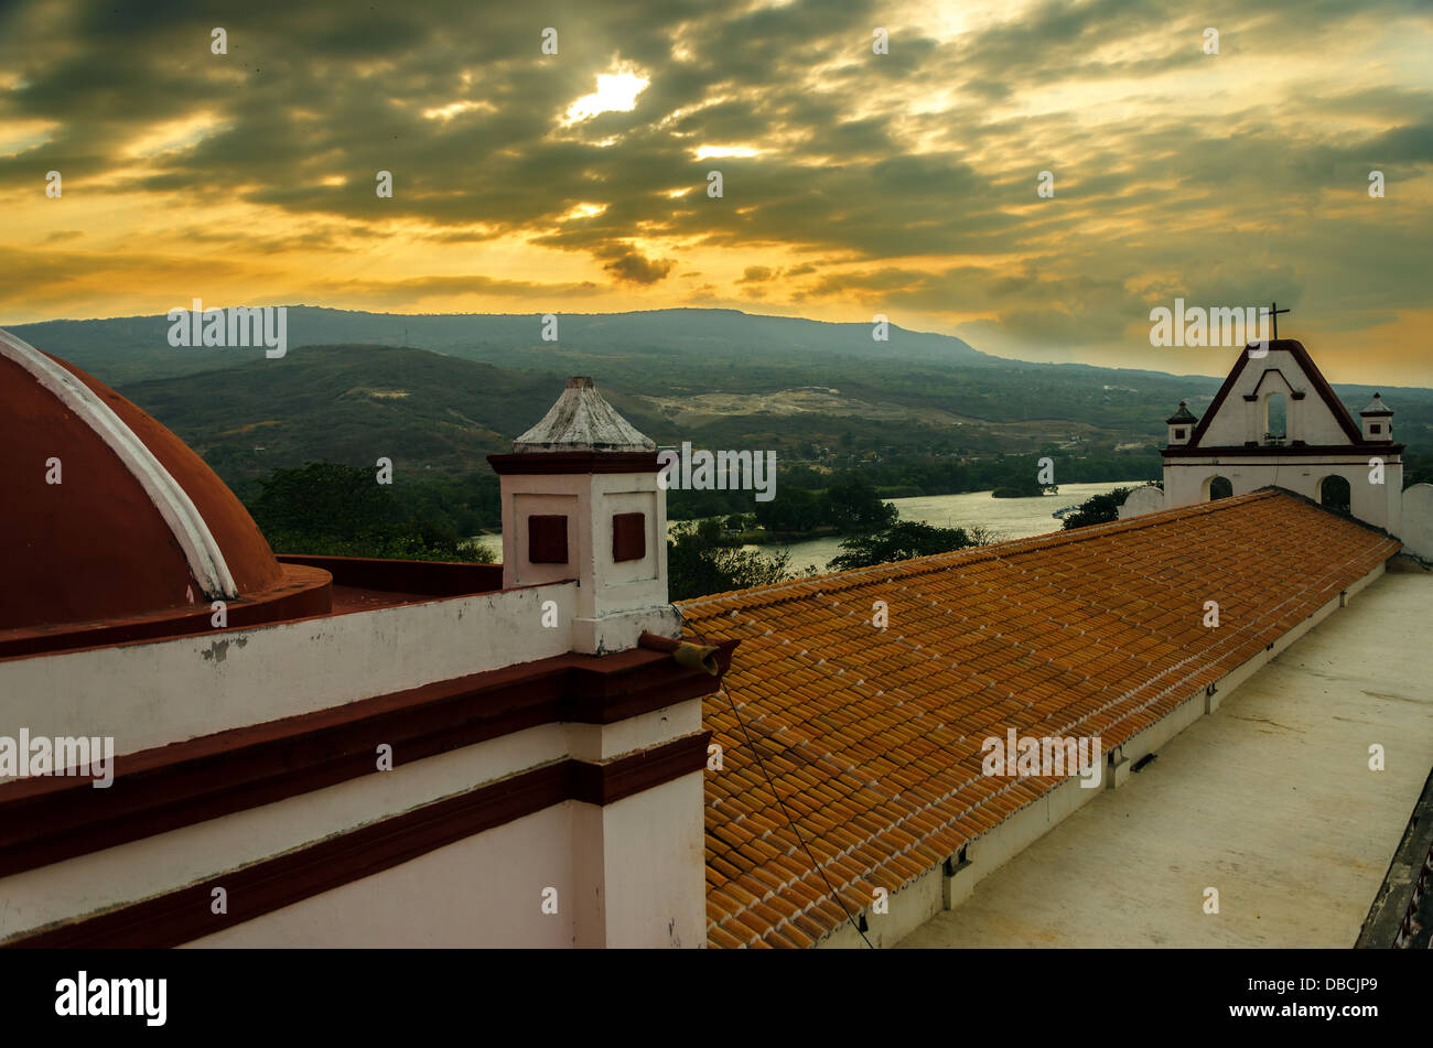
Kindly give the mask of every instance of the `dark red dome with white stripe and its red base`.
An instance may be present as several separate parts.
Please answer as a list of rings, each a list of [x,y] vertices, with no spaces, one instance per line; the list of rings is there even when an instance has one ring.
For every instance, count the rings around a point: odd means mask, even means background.
[[[155,418],[0,331],[0,656],[328,610],[234,493]],[[297,600],[295,600],[297,598]]]

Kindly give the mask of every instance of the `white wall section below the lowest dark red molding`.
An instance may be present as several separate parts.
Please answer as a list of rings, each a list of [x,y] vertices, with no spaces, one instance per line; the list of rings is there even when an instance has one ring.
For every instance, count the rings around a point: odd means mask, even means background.
[[[694,772],[605,807],[556,805],[191,945],[699,948],[704,846]]]

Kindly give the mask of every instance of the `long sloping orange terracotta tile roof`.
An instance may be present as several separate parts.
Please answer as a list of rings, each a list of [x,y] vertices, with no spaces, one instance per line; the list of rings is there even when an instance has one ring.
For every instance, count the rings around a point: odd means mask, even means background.
[[[983,739],[1098,734],[1108,752],[1397,550],[1264,490],[681,604],[689,636],[741,640],[704,704],[724,747],[706,773],[708,942],[808,946],[845,921],[787,812],[858,913],[1059,783],[983,776]]]

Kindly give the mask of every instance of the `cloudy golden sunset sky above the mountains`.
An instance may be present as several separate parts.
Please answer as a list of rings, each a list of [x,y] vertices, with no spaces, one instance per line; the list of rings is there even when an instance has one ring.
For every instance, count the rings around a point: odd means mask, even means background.
[[[1430,56],[1348,0],[10,4],[0,324],[724,306],[1217,374],[1149,311],[1278,299],[1433,385]]]

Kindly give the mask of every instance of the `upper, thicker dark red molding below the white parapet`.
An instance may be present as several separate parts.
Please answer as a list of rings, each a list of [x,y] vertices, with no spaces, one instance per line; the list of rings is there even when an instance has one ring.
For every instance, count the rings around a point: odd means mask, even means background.
[[[735,646],[722,646],[724,669]],[[116,756],[103,790],[23,779],[0,786],[0,876],[374,773],[380,743],[397,767],[539,724],[609,724],[716,686],[645,649],[566,654]]]

